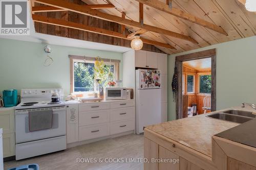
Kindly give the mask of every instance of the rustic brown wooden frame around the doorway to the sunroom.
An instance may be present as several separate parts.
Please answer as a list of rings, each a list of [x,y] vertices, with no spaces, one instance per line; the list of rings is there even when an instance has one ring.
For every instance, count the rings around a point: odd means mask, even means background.
[[[178,93],[176,98],[176,119],[182,118],[182,62],[211,57],[211,111],[216,110],[216,48],[201,52],[176,56]]]

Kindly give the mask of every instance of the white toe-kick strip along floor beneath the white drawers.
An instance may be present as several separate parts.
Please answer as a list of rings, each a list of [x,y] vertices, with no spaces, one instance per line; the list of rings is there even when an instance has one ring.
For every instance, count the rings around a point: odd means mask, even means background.
[[[82,145],[82,144],[92,143],[92,142],[96,142],[96,141],[103,140],[103,139],[115,138],[115,137],[129,135],[129,134],[135,134],[135,131],[132,130],[132,131],[127,131],[127,132],[118,133],[118,134],[114,134],[114,135],[98,137],[98,138],[95,138],[95,139],[89,139],[89,140],[83,140],[83,141],[68,143],[67,148],[73,148],[73,147],[77,147],[77,146]]]

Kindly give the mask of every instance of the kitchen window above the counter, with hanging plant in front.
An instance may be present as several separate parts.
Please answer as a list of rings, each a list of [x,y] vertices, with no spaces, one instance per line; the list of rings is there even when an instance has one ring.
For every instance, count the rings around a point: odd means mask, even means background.
[[[71,93],[90,94],[95,90],[95,58],[70,56],[71,60]],[[120,60],[101,59],[103,61],[103,72],[101,84],[108,86],[108,82],[119,79]]]

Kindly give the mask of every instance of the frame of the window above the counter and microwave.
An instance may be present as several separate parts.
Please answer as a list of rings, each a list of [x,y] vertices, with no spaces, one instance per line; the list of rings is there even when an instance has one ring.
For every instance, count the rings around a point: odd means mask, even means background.
[[[69,55],[70,58],[70,93],[73,94],[83,94],[83,95],[90,95],[93,94],[94,91],[74,91],[74,62],[82,62],[82,63],[95,63],[96,57],[84,57],[84,56],[74,56]],[[114,79],[119,79],[119,65],[121,60],[116,59],[105,59],[101,58],[104,64],[106,65],[114,65]]]

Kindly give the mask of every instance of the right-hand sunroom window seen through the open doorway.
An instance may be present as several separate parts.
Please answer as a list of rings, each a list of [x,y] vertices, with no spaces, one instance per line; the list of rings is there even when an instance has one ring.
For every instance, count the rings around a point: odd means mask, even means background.
[[[211,93],[211,75],[199,75],[199,93]]]

